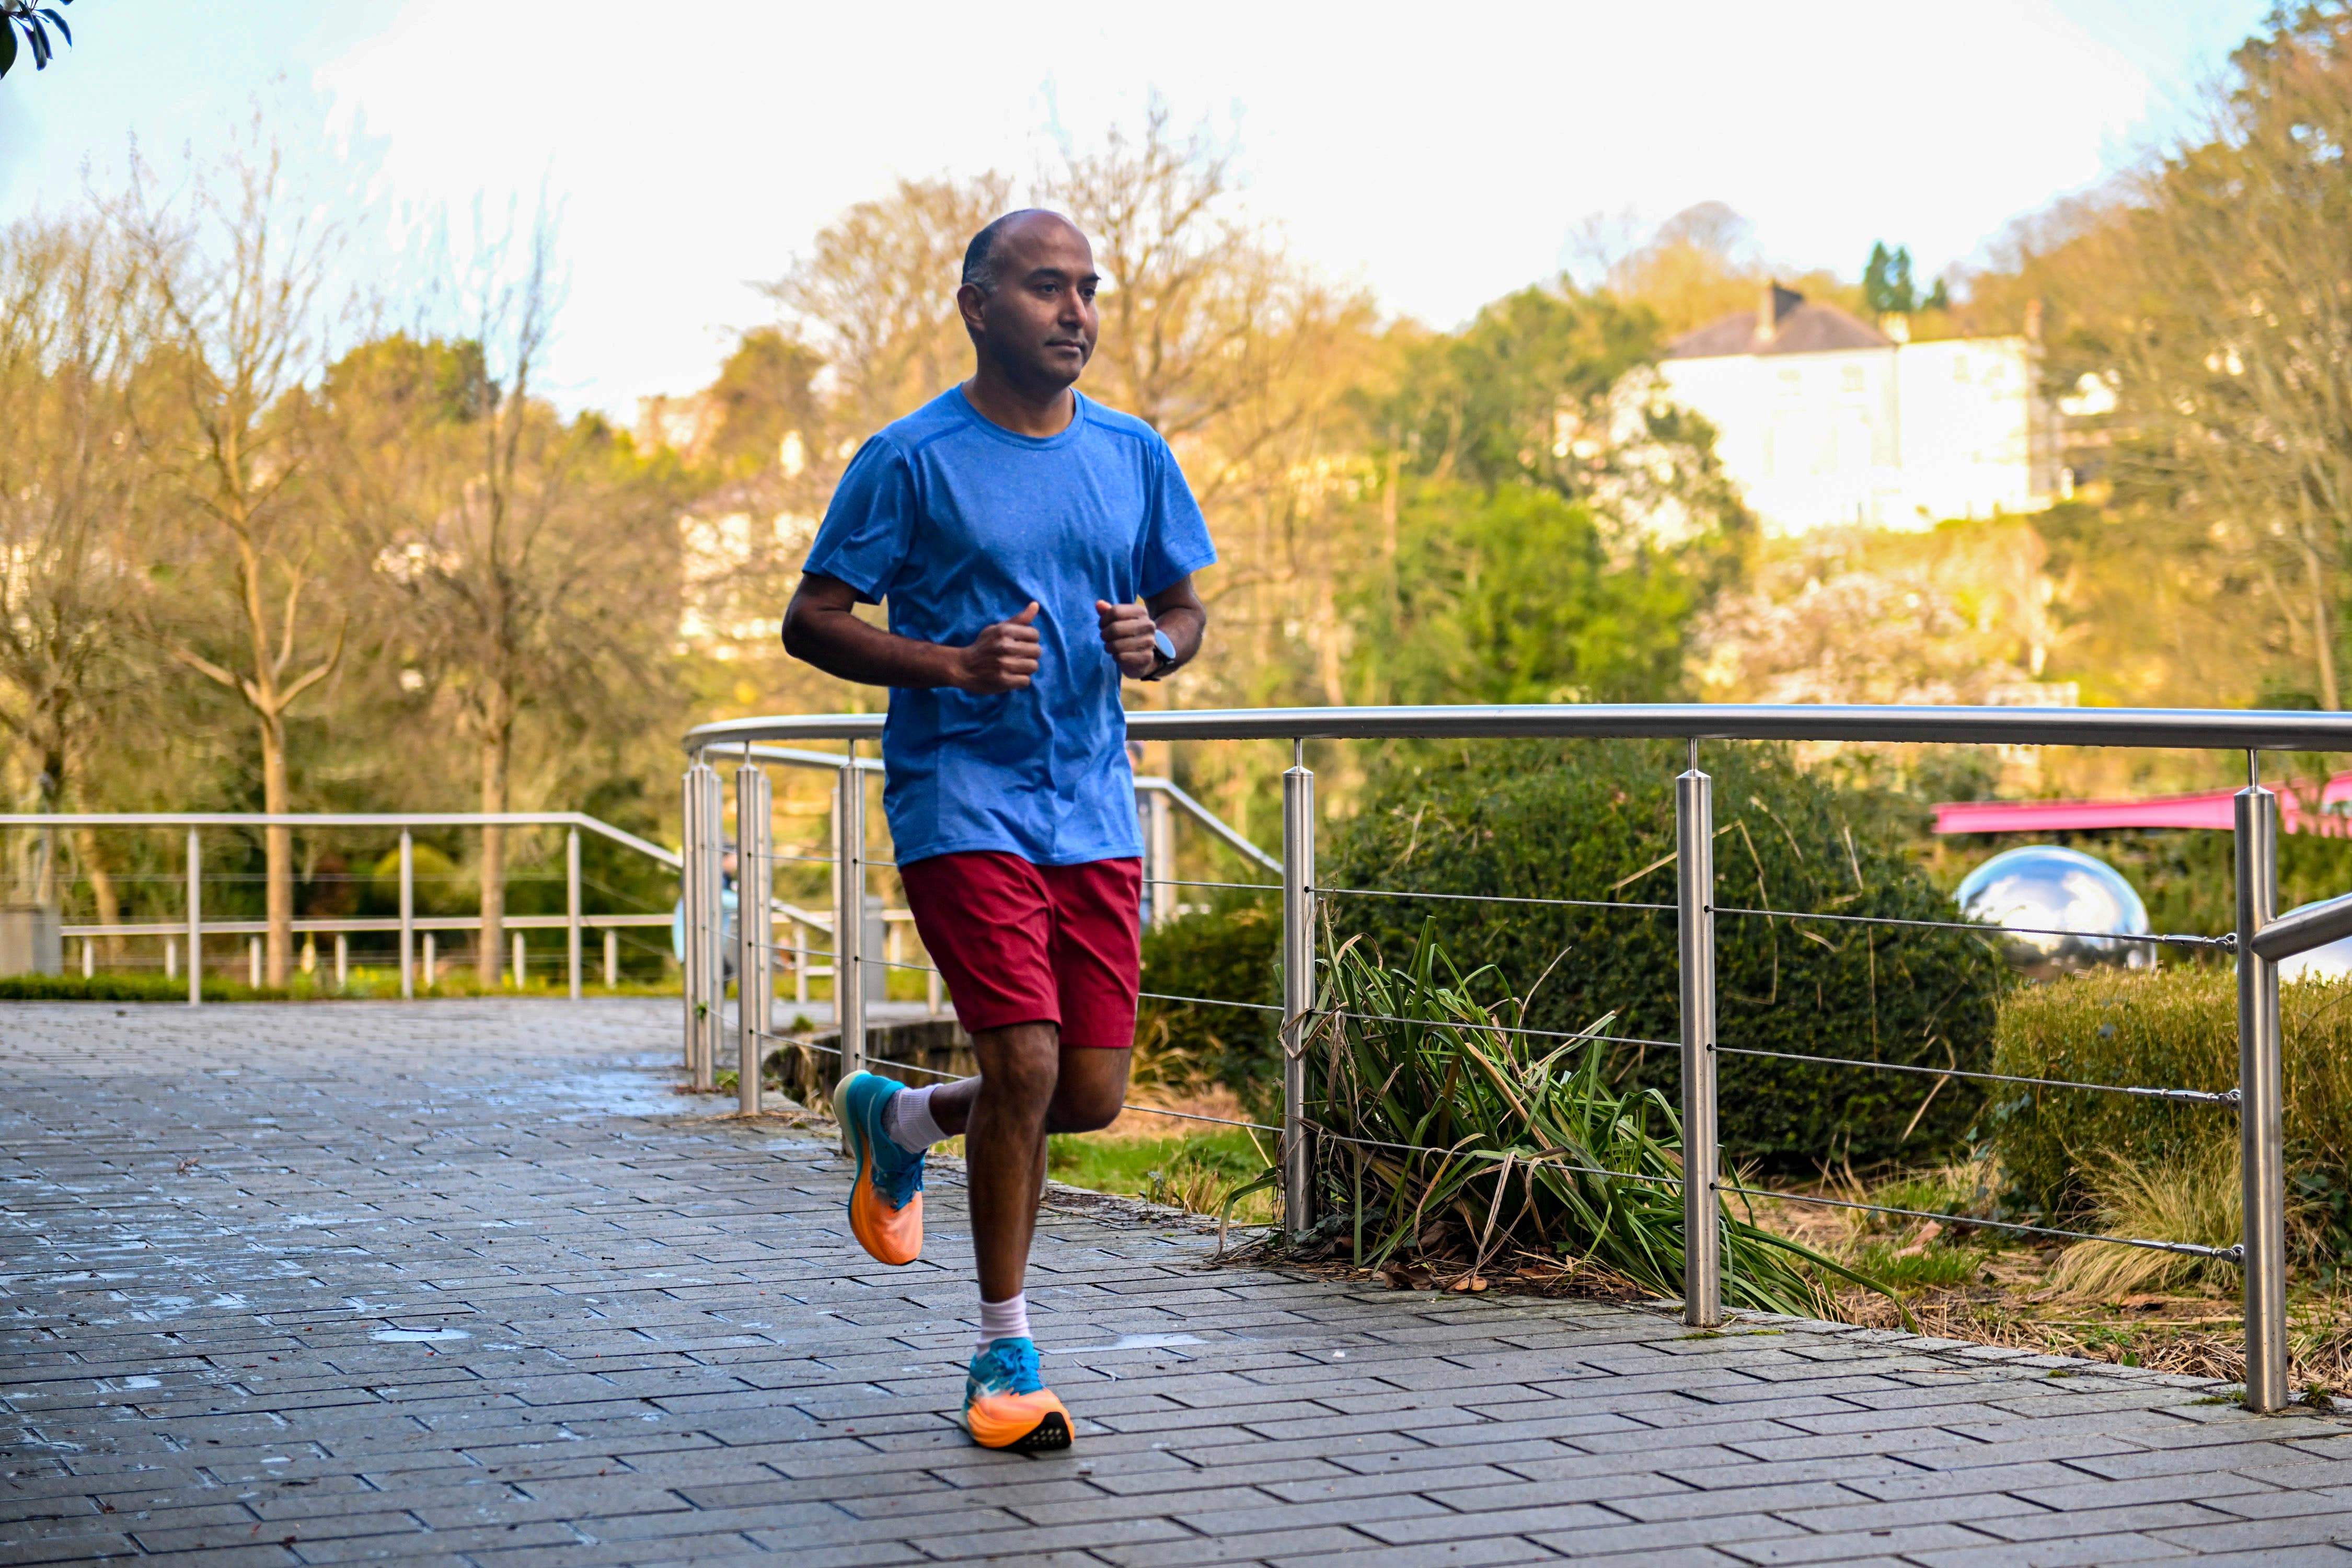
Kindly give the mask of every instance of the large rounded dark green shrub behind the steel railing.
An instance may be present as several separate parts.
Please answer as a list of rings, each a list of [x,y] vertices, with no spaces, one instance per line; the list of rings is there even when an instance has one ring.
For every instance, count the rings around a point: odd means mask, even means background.
[[[1331,837],[1322,882],[1414,893],[1675,900],[1682,745],[1519,743],[1392,762]],[[1955,919],[1900,849],[1907,806],[1839,790],[1769,745],[1712,745],[1715,884],[1722,905]],[[1496,966],[1529,994],[1531,1027],[1679,1037],[1675,912],[1437,898],[1327,900],[1336,938],[1409,952],[1435,919],[1465,969]],[[2009,976],[1966,931],[1719,914],[1724,1046],[1980,1070]],[[1541,978],[1541,983],[1538,983]],[[1677,1051],[1625,1048],[1630,1086],[1677,1093]],[[1724,1056],[1722,1135],[1769,1168],[1924,1161],[1952,1150],[1983,1095],[1957,1079]]]

